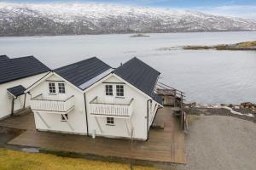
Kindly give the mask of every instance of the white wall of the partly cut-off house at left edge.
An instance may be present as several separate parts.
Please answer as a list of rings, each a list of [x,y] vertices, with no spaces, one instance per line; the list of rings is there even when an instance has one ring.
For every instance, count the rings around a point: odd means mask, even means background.
[[[24,88],[30,87],[34,82],[37,82],[40,78],[44,77],[47,73],[38,74],[36,76],[32,77],[26,77],[19,80],[15,80],[13,82],[6,82],[3,84],[0,84],[0,119],[4,118],[6,116],[9,116],[11,114],[11,108],[12,108],[12,97],[7,92],[8,88],[13,88],[18,85],[24,86]],[[18,97],[18,99],[15,99],[15,109],[19,109],[18,105],[20,105],[20,108],[24,105],[24,97],[25,95],[21,95]],[[26,98],[26,106],[29,105],[29,97]]]

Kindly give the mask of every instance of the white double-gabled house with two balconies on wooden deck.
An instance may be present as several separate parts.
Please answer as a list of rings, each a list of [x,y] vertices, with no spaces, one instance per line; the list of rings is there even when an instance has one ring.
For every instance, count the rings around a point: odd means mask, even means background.
[[[39,131],[147,140],[162,107],[154,94],[159,75],[137,58],[113,69],[94,57],[52,71],[26,92]]]

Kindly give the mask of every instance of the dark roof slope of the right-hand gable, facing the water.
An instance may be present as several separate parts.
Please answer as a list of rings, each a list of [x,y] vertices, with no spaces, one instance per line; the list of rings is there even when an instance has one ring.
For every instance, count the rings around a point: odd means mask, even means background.
[[[136,57],[127,61],[113,71],[116,75],[131,83],[136,88],[154,98],[154,85],[160,75],[159,71],[154,70],[142,60]]]

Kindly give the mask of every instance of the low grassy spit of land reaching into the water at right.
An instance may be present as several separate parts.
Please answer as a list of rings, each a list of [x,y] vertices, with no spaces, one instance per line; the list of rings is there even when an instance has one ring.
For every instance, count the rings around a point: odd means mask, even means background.
[[[183,49],[216,49],[216,50],[256,50],[256,41],[240,42],[235,44],[219,44],[213,46],[184,46]]]

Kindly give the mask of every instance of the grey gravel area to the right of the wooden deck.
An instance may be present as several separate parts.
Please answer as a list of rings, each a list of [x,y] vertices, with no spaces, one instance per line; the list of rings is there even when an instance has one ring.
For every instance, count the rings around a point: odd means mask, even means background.
[[[189,116],[188,163],[181,170],[254,170],[256,124],[232,116]]]

